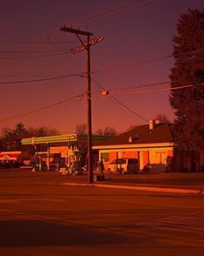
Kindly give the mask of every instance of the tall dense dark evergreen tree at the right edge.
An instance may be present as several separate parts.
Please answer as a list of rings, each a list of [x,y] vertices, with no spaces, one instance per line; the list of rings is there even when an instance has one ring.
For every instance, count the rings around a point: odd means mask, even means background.
[[[204,151],[204,10],[188,10],[177,24],[171,87],[193,87],[171,92],[174,138],[179,145]]]

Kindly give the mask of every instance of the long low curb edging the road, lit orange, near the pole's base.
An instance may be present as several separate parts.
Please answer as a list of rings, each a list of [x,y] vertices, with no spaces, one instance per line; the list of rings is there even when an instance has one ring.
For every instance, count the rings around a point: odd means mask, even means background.
[[[126,190],[136,190],[136,191],[149,191],[149,192],[174,192],[174,193],[186,193],[186,194],[204,194],[204,190],[202,190],[202,189],[196,190],[196,189],[153,187],[153,186],[87,184],[87,183],[68,183],[68,182],[63,183],[63,185],[116,188],[116,189],[126,189]]]

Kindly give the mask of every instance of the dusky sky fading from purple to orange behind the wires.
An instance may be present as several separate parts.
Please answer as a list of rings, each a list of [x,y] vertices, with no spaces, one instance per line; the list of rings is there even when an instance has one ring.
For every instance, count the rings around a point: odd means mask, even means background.
[[[73,133],[87,122],[86,51],[70,53],[81,43],[59,30],[63,25],[104,37],[90,49],[93,131],[106,126],[127,131],[160,113],[174,120],[169,91],[152,91],[169,84],[124,87],[169,82],[172,38],[188,8],[201,9],[203,1],[0,0],[0,129],[23,122],[27,128]],[[42,79],[48,80],[28,82]],[[102,88],[125,107],[102,96]],[[147,90],[152,92],[135,94]]]

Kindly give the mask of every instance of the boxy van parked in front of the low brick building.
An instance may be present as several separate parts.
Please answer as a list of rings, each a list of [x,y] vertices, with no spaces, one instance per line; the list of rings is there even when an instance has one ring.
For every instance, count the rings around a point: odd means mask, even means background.
[[[139,172],[139,163],[137,158],[118,158],[108,165],[108,173],[119,172],[124,173],[134,173]]]

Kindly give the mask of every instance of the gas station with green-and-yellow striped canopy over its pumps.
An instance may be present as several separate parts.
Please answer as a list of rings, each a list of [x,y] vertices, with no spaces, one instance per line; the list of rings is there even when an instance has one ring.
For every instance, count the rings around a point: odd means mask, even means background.
[[[93,144],[97,145],[109,137],[93,136]],[[23,138],[22,145],[32,145],[35,150],[36,168],[39,171],[58,167],[80,170],[87,165],[87,136],[65,134],[58,136]],[[93,152],[93,165],[96,166],[98,152]]]

